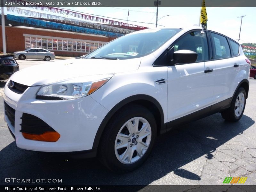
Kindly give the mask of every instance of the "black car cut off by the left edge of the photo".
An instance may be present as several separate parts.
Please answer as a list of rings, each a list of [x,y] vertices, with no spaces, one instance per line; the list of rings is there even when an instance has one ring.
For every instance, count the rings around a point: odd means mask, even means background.
[[[13,73],[20,70],[13,54],[0,55],[0,80],[8,79]]]

